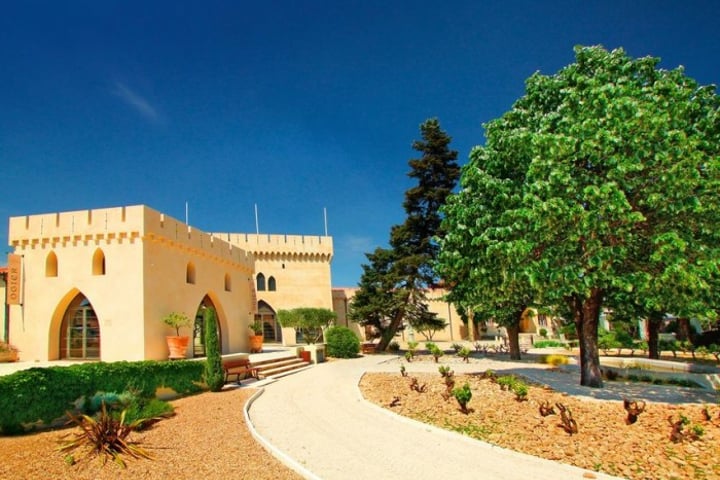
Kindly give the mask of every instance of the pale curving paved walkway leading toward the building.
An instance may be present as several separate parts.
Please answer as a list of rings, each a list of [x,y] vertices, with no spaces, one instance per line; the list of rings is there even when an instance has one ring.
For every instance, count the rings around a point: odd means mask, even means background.
[[[357,386],[363,373],[399,372],[395,358],[328,362],[265,386],[248,410],[256,435],[310,479],[616,478],[492,446],[365,401]],[[413,363],[410,371],[423,368],[437,371],[427,362]]]

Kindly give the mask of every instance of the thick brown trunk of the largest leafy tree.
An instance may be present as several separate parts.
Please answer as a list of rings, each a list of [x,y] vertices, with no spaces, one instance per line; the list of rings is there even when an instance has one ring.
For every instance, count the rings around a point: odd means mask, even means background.
[[[602,307],[602,289],[593,288],[590,296],[573,296],[575,328],[580,342],[580,385],[602,388],[600,355],[597,346],[597,331]]]

